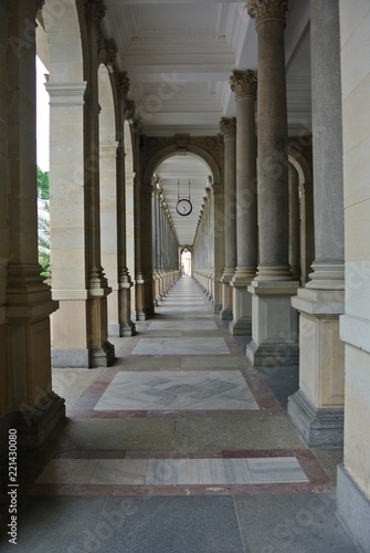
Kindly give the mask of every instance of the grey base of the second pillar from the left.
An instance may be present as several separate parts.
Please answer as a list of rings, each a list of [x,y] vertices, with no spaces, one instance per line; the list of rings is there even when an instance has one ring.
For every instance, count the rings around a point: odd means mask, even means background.
[[[88,349],[52,349],[53,368],[109,367],[114,361],[115,348],[110,342]]]

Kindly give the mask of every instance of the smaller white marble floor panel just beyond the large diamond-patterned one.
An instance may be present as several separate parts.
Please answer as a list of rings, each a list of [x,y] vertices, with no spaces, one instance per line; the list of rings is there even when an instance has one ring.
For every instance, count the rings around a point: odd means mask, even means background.
[[[228,355],[224,338],[140,338],[131,355]]]

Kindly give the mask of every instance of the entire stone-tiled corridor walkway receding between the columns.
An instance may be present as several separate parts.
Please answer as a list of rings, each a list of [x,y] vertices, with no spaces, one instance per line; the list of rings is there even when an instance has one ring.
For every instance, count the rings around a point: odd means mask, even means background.
[[[137,327],[113,367],[54,371],[68,419],[19,468],[18,551],[355,552],[340,451],[304,445],[265,384],[284,369],[249,366],[192,279]]]

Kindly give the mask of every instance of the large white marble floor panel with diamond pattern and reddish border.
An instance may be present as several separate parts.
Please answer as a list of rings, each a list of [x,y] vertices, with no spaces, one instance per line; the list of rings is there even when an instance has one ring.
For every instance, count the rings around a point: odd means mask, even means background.
[[[118,373],[94,410],[258,409],[240,371]]]

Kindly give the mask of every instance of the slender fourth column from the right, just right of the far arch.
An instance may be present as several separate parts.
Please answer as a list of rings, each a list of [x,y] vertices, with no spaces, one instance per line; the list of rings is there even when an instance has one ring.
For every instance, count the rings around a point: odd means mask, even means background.
[[[225,267],[222,273],[222,310],[223,321],[233,319],[233,290],[230,281],[236,267],[236,118],[222,117],[220,128],[225,144],[224,149],[224,232]]]

